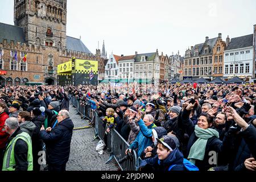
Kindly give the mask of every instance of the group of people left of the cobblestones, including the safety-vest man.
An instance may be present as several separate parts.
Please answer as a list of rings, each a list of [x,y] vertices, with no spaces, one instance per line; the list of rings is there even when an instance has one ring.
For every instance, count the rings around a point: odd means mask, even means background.
[[[3,171],[64,171],[73,122],[60,86],[0,89],[0,167]]]

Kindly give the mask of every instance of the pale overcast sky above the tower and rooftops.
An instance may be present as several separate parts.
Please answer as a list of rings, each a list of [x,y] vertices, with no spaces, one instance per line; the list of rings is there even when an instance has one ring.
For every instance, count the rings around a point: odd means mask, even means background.
[[[14,24],[13,0],[0,0],[0,22]],[[222,33],[253,34],[255,0],[68,0],[67,35],[92,53],[105,40],[108,55],[154,52],[171,55]]]

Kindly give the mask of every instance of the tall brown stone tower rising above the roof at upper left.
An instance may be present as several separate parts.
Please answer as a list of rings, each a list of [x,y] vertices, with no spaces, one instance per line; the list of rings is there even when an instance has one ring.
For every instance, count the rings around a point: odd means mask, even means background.
[[[67,0],[14,0],[14,24],[27,44],[66,48]]]

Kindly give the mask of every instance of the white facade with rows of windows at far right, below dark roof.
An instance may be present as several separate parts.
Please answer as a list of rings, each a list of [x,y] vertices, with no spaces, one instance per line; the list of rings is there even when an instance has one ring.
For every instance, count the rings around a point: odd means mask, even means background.
[[[224,78],[253,76],[253,46],[224,51]]]

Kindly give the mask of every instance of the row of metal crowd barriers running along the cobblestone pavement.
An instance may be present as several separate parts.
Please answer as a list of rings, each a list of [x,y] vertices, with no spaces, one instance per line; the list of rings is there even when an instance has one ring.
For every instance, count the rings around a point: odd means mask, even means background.
[[[96,111],[92,110],[90,104],[80,105],[75,97],[72,97],[73,106],[77,106],[77,111],[90,121],[94,121],[95,137],[104,141],[105,128],[103,127],[103,121],[98,116]],[[84,119],[83,118],[83,119]],[[110,152],[110,158],[106,162],[108,164],[112,159],[115,159],[122,171],[137,171],[138,158],[137,153],[133,150],[131,155],[126,155],[125,151],[129,147],[129,143],[115,130],[112,129],[107,135],[107,148]]]

